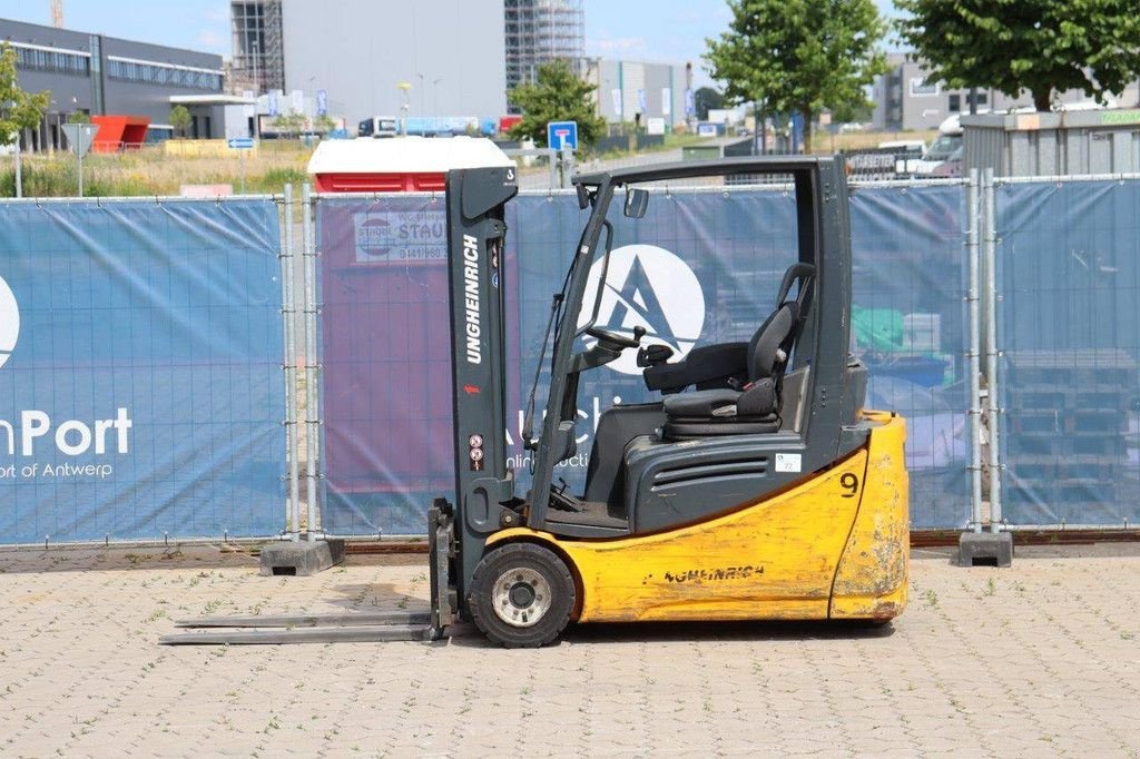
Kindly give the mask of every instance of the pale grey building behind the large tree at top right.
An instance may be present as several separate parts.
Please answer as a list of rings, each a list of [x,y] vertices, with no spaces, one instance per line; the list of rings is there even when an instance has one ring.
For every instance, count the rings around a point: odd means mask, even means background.
[[[947,89],[942,82],[930,81],[926,63],[911,59],[906,54],[887,56],[890,71],[874,77],[872,125],[881,131],[911,131],[937,129],[946,117],[970,113],[970,90]],[[1028,92],[1011,98],[994,89],[976,91],[977,109],[1007,111],[1032,106]],[[1081,90],[1054,93],[1058,103],[1086,103],[1089,96]],[[1117,98],[1117,105],[1137,104],[1137,85],[1131,84]]]

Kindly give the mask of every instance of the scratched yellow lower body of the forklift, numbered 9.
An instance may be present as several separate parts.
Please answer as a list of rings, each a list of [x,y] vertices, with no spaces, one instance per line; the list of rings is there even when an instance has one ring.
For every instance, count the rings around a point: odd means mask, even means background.
[[[889,619],[906,601],[905,425],[869,417],[880,426],[865,449],[730,514],[614,540],[518,528],[488,547],[534,540],[567,556],[581,582],[583,622],[826,619],[829,609]],[[832,599],[833,581],[842,597]]]

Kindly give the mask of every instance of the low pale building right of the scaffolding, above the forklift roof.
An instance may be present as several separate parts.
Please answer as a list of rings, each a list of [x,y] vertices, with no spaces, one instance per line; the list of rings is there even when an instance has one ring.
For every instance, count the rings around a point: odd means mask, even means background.
[[[586,81],[597,88],[597,113],[608,123],[661,119],[673,130],[685,123],[692,67],[636,60],[585,60]]]

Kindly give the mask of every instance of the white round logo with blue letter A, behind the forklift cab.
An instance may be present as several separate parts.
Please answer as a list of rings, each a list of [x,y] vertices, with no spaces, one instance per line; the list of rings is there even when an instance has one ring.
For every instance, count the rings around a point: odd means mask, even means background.
[[[596,261],[589,270],[580,325],[593,312],[602,268],[602,261]],[[644,327],[642,345],[668,345],[673,360],[679,360],[693,349],[705,326],[705,293],[693,270],[674,253],[657,245],[625,245],[610,253],[597,326],[630,337],[634,327]],[[621,358],[606,366],[622,374],[643,372],[635,350],[622,351]]]

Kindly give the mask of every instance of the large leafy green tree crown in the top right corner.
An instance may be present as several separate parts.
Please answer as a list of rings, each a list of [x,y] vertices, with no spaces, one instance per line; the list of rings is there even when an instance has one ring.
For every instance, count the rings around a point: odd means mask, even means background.
[[[1140,73],[1135,0],[896,0],[909,13],[902,39],[947,87],[1033,95],[1049,111],[1052,92],[1080,89],[1099,103]]]

